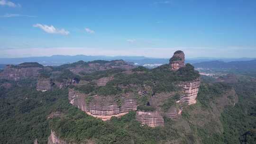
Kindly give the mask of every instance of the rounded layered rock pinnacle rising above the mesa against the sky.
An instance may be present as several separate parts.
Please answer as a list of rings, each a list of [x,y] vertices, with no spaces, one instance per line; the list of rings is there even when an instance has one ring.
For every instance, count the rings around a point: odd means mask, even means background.
[[[179,68],[185,66],[185,54],[183,51],[176,51],[170,59],[171,70],[177,71]]]

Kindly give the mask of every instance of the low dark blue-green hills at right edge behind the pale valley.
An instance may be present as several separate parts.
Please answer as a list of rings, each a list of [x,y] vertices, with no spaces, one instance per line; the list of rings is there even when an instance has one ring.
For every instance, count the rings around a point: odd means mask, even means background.
[[[218,69],[238,69],[238,70],[256,70],[256,60],[251,61],[235,61],[235,62],[222,62],[210,61],[193,64],[197,68],[218,68]]]

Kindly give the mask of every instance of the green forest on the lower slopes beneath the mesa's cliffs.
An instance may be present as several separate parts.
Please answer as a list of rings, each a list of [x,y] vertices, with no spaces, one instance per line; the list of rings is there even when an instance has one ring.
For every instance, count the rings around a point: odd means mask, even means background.
[[[42,93],[36,90],[33,79],[1,80],[0,84],[6,82],[11,83],[10,88],[0,87],[0,144],[31,144],[36,138],[39,144],[46,144],[51,129],[64,140],[76,143],[85,140],[96,144],[256,143],[256,82],[252,81],[202,82],[197,104],[185,107],[182,117],[165,118],[165,126],[155,128],[141,126],[135,119],[136,112],[112,117],[107,122],[88,116],[68,103],[67,89]],[[216,115],[216,99],[229,90],[235,90],[238,95],[235,106],[224,107],[219,118],[207,117],[207,114]],[[62,117],[47,118],[56,111]],[[199,125],[200,119],[204,119],[205,126]]]

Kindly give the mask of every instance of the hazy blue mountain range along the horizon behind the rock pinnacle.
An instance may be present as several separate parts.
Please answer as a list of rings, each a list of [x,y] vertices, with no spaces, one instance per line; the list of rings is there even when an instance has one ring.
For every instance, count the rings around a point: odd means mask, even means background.
[[[0,64],[18,64],[24,62],[37,62],[43,65],[61,65],[65,63],[73,63],[77,61],[94,61],[94,60],[119,60],[122,59],[127,62],[132,62],[138,65],[147,64],[165,64],[169,63],[168,58],[151,58],[145,56],[90,56],[90,55],[53,55],[53,56],[40,56],[40,57],[24,57],[24,58],[0,58]],[[207,61],[249,61],[256,58],[211,58],[211,57],[198,57],[187,58],[186,63],[201,63]],[[2,67],[0,65],[0,67]]]

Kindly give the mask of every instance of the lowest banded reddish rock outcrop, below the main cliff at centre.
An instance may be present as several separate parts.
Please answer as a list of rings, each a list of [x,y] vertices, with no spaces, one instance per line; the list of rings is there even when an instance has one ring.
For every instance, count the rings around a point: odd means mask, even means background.
[[[164,118],[157,111],[137,111],[136,120],[142,125],[147,125],[151,127],[164,126]]]

